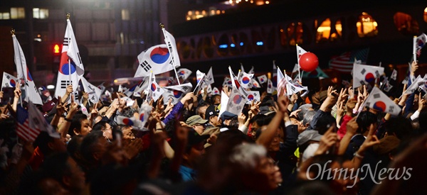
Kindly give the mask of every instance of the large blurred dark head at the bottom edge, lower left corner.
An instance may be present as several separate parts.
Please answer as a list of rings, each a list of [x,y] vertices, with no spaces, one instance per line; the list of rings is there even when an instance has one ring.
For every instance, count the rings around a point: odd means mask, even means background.
[[[80,194],[85,189],[85,173],[67,152],[48,157],[41,168],[73,194]]]

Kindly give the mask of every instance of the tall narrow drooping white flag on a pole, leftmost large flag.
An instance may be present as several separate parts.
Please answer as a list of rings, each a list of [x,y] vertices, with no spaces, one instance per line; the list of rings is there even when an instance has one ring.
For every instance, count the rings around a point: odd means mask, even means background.
[[[18,78],[23,79],[25,82],[25,101],[32,101],[33,104],[43,104],[41,96],[38,94],[36,84],[33,82],[33,77],[31,77],[31,73],[26,65],[26,60],[25,56],[23,55],[21,45],[19,45],[15,35],[12,35],[12,39],[14,40],[14,59],[16,72],[18,73]]]

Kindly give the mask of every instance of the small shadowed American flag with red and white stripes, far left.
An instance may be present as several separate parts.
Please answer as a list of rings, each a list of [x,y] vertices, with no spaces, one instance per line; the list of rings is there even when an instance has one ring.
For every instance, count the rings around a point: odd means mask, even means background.
[[[28,111],[21,106],[16,108],[16,134],[19,138],[26,141],[36,140],[38,134],[40,134],[40,130],[30,128],[28,122]]]

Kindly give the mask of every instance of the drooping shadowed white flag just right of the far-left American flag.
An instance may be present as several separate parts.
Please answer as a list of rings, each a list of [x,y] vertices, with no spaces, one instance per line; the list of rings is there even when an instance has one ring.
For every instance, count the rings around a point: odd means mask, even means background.
[[[46,121],[41,111],[31,101],[28,102],[28,123],[30,128],[46,131],[52,138],[60,138],[59,133]]]

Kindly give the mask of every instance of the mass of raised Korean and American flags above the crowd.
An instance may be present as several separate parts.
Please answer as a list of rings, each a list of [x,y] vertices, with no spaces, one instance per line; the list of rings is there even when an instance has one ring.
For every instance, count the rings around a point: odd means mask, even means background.
[[[224,78],[221,89],[218,89],[214,87],[215,79],[212,67],[206,73],[201,72],[199,69],[194,72],[190,69],[181,67],[174,36],[164,28],[162,28],[162,31],[164,33],[164,44],[154,45],[142,51],[137,56],[139,66],[135,72],[135,77],[142,77],[142,80],[126,89],[120,85],[118,91],[124,94],[124,96],[117,96],[117,99],[111,102],[111,105],[113,105],[123,101],[126,106],[134,106],[137,104],[135,99],[140,98],[144,101],[143,104],[135,106],[137,108],[137,116],[117,116],[115,122],[117,122],[118,125],[132,126],[134,130],[147,131],[149,130],[147,127],[149,118],[152,117],[152,112],[154,112],[152,107],[153,102],[157,102],[159,106],[166,105],[173,107],[184,104],[181,103],[181,99],[191,93],[195,96],[221,96],[220,104],[214,108],[215,112],[218,112],[217,121],[220,121],[223,115],[241,117],[245,108],[248,109],[248,107],[253,106],[254,102],[265,103],[266,101],[263,101],[262,97],[265,96],[263,91],[270,95],[272,101],[280,99],[282,96],[287,96],[290,100],[292,96],[297,94],[297,96],[302,99],[302,104],[305,104],[307,101],[308,104],[311,104],[310,98],[316,94],[310,93],[313,92],[310,91],[312,89],[304,86],[302,78],[316,77],[322,79],[327,77],[327,74],[322,72],[320,67],[317,67],[317,69],[312,72],[302,72],[300,68],[300,57],[307,51],[301,48],[300,45],[296,45],[297,64],[295,64],[295,67],[290,71],[290,75],[286,73],[285,69],[280,69],[278,65],[275,65],[275,61],[273,61],[272,75],[270,73],[255,74],[255,67],[251,67],[251,69],[246,72],[243,65],[241,65],[236,76],[233,69],[228,67],[229,76]],[[28,71],[25,56],[16,36],[12,35],[12,38],[14,41],[14,59],[17,76],[14,77],[14,75],[4,72],[1,89],[4,87],[16,88],[14,91],[16,93],[15,98],[20,97],[21,88],[25,91],[25,99],[19,100],[21,105],[16,105],[15,103],[17,100],[15,99],[14,106],[16,106],[16,108],[12,108],[11,106],[6,108],[6,111],[9,110],[9,112],[15,113],[16,134],[20,139],[26,141],[36,140],[42,131],[48,133],[52,138],[61,138],[57,130],[46,121],[44,116],[46,113],[42,113],[36,106],[46,104],[46,102],[42,101],[38,88]],[[414,64],[416,65],[416,57],[421,54],[421,49],[426,44],[426,40],[427,36],[425,34],[413,38],[414,55],[413,64],[410,65],[410,67],[413,67]],[[391,100],[387,95],[387,92],[392,88],[397,88],[397,86],[392,86],[391,80],[396,81],[398,73],[396,69],[394,69],[387,77],[384,72],[384,67],[381,67],[381,65],[365,65],[368,51],[369,49],[346,52],[339,57],[334,57],[330,61],[330,67],[332,69],[337,69],[339,72],[352,72],[352,81],[343,80],[343,88],[349,91],[355,89],[362,90],[362,88],[365,90],[366,94],[362,96],[362,100],[359,99],[360,94],[357,97],[354,96],[354,94],[352,94],[352,97],[349,97],[349,100],[357,99],[354,101],[357,101],[358,105],[362,103],[362,105],[359,105],[359,108],[351,112],[352,114],[359,114],[362,113],[364,108],[372,108],[374,111],[380,113],[399,116],[404,112],[401,104],[396,104],[396,101]],[[70,101],[71,104],[73,104],[74,101],[82,101],[78,100],[78,96],[79,91],[84,91],[88,96],[88,104],[92,104],[93,107],[102,104],[102,96],[112,96],[112,93],[115,91],[108,91],[103,84],[99,86],[90,84],[90,82],[83,77],[84,70],[85,67],[80,58],[77,40],[75,40],[70,20],[67,19],[55,96],[60,99],[60,96],[70,94],[66,101]],[[166,86],[158,84],[156,77],[159,74],[169,71],[174,71],[175,77],[169,77]],[[189,78],[194,73],[196,76],[196,83],[192,84],[189,82]],[[408,75],[402,83],[408,84],[408,87],[402,92],[404,98],[407,98],[407,95],[410,94],[418,94],[419,91],[423,91],[427,94],[427,74],[424,77],[421,77],[421,75],[418,75],[418,77]],[[70,86],[72,88],[71,93],[68,91]],[[321,93],[321,91],[315,92],[317,92],[317,95]],[[350,95],[345,94],[346,90],[344,90],[344,92],[342,91],[342,93],[344,93],[346,98]],[[361,91],[359,91],[359,93],[361,93]],[[328,101],[336,98],[333,97],[334,94],[337,94],[336,91],[332,92],[332,90],[327,90]],[[310,98],[307,96],[310,96]],[[341,96],[342,94],[339,94],[339,98],[341,98]],[[401,99],[402,96],[399,99]],[[60,101],[62,101],[62,99],[60,99]],[[292,101],[296,102],[295,99]],[[23,102],[28,104],[23,106]],[[151,102],[151,104],[149,104],[149,102]],[[319,103],[322,104],[322,102]],[[322,106],[320,106],[320,108],[322,108]],[[334,108],[336,110],[344,109],[342,105],[334,105]],[[277,105],[276,109],[278,109]],[[295,109],[296,108],[292,107],[291,111],[295,111]],[[84,104],[80,104],[80,111],[87,116],[91,114],[91,111],[88,111],[87,106]],[[209,120],[209,118],[205,119]],[[201,120],[203,121],[203,119]],[[337,123],[339,123],[339,120]]]

